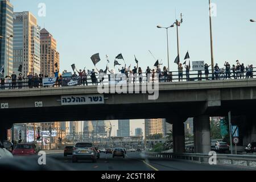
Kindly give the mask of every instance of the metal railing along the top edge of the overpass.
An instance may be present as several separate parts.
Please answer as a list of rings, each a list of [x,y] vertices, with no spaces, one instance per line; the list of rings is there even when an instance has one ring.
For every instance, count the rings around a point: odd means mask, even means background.
[[[253,68],[253,70],[256,70]],[[187,77],[186,72],[183,71],[183,78],[180,79],[179,78],[179,72],[178,71],[174,71],[174,72],[168,72],[167,75],[164,76],[164,73],[162,72],[159,76],[159,73],[155,73],[155,76],[152,77],[152,73],[150,74],[150,79],[147,80],[147,74],[146,73],[142,73],[141,75],[137,74],[137,77],[134,81],[135,84],[138,84],[140,82],[147,82],[147,81],[155,81],[155,82],[178,82],[178,81],[203,81],[203,80],[225,80],[226,78],[229,79],[229,76],[231,79],[248,79],[248,78],[253,78],[254,77],[254,73],[256,73],[256,71],[245,71],[243,73],[233,73],[232,71],[230,73],[228,73],[228,75],[226,75],[226,71],[225,69],[220,69],[220,72],[218,73],[214,73],[214,71],[209,71],[209,77],[207,78],[205,76],[204,71],[201,72],[201,74],[199,74],[197,71],[190,71],[189,72],[189,77]],[[118,75],[118,74],[116,74]],[[141,78],[141,81],[139,79],[139,77]],[[213,77],[214,76],[214,77]],[[216,77],[217,76],[217,77]],[[226,77],[228,76],[228,77]],[[133,78],[130,78],[129,75],[127,75],[127,81],[129,81],[129,79],[131,82],[133,82]],[[101,82],[98,78],[96,80],[96,83],[94,83],[94,85],[98,85],[98,84],[104,84],[104,85],[108,85],[110,83],[110,75],[105,75],[104,76],[104,80]],[[93,85],[92,82],[92,78],[90,76],[88,76],[88,78],[86,79],[86,81],[84,82],[84,84],[81,85]],[[52,86],[61,86],[61,80],[59,82],[56,82],[55,84],[53,84]],[[45,88],[47,87],[52,87],[52,86],[44,86]],[[42,78],[37,81],[32,80],[29,81],[28,78],[23,78],[22,80],[11,80],[11,78],[5,78],[5,80],[0,80],[0,90],[5,90],[5,89],[24,89],[24,88],[43,88],[43,84],[42,84]]]

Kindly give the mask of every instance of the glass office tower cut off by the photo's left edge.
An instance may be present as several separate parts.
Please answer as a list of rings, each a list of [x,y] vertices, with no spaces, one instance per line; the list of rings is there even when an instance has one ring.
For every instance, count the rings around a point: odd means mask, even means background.
[[[5,76],[13,73],[13,5],[0,0],[0,72]],[[3,68],[3,69],[2,69]]]

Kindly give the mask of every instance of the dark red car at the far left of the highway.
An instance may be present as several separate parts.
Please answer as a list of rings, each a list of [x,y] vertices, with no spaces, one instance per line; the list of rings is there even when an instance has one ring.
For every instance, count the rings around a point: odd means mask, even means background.
[[[17,144],[14,147],[13,155],[16,156],[30,156],[38,155],[39,148],[33,143]]]

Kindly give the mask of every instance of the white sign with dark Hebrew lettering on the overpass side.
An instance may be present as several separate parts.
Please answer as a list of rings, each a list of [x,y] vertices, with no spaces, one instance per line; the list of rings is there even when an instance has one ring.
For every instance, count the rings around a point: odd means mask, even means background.
[[[61,96],[61,105],[104,104],[104,94]]]

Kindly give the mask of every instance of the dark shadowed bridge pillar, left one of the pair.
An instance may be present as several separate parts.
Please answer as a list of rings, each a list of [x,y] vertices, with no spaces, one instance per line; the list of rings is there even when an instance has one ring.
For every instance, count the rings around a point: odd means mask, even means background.
[[[174,152],[184,153],[185,152],[185,131],[184,122],[176,118],[173,121],[172,127],[172,138],[174,141]]]

